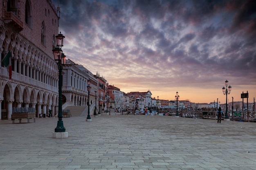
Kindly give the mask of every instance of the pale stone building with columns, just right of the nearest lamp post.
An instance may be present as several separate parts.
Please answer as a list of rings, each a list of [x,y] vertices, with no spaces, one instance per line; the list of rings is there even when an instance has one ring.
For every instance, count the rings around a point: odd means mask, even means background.
[[[95,95],[98,91],[98,79],[83,64],[77,64],[70,59],[63,66],[62,102],[63,109],[67,106],[88,106],[90,113],[94,113]],[[90,80],[90,96],[88,97],[87,84]]]

